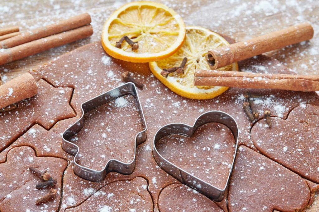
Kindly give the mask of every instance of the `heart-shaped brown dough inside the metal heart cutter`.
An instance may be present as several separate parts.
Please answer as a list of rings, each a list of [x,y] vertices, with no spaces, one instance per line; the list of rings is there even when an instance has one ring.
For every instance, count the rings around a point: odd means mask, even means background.
[[[232,131],[218,123],[200,126],[191,138],[172,134],[156,143],[165,159],[219,189],[226,185],[234,146]]]

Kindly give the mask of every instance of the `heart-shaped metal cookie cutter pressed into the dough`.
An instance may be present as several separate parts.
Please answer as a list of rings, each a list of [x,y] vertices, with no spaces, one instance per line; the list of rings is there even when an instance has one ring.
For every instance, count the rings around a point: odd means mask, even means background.
[[[229,175],[228,175],[224,189],[219,189],[205,182],[204,180],[199,179],[198,177],[188,173],[187,171],[181,169],[180,167],[175,166],[173,163],[169,162],[161,154],[159,154],[159,152],[156,149],[156,143],[159,141],[160,138],[163,138],[164,136],[171,135],[171,134],[179,134],[179,135],[184,135],[187,137],[192,137],[198,127],[210,122],[217,122],[217,123],[226,125],[232,131],[236,141],[234,159],[233,159],[232,166],[230,168]],[[229,183],[230,176],[234,168],[234,162],[235,162],[237,146],[238,146],[238,134],[239,134],[238,125],[232,116],[222,111],[209,111],[199,116],[196,119],[195,124],[193,126],[189,126],[187,124],[182,124],[182,123],[174,123],[174,124],[167,124],[161,127],[154,136],[154,141],[153,141],[154,159],[156,163],[164,171],[171,174],[174,178],[176,178],[183,184],[186,184],[194,188],[195,190],[199,191],[200,193],[206,195],[207,197],[215,201],[221,201],[224,197],[223,196],[224,192]]]

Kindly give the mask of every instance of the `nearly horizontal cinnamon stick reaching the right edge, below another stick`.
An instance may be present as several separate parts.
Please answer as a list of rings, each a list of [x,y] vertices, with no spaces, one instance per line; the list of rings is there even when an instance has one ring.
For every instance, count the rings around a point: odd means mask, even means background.
[[[318,91],[319,75],[254,74],[237,71],[198,70],[195,72],[195,85]]]

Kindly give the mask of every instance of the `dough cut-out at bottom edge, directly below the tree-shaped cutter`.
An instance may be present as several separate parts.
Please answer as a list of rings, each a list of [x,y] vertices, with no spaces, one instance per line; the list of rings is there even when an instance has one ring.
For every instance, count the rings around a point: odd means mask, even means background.
[[[69,197],[72,201],[72,197]],[[62,205],[62,208],[64,205]],[[141,177],[121,180],[108,184],[95,192],[89,199],[66,211],[153,211],[151,195],[147,191],[147,181]]]

